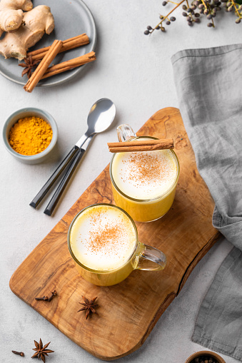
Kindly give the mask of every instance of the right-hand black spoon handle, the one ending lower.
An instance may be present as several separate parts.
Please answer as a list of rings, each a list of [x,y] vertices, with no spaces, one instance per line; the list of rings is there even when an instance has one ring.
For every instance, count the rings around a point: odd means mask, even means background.
[[[74,170],[76,168],[76,165],[81,160],[82,156],[84,155],[86,150],[81,149],[79,153],[76,155],[76,158],[74,159],[74,162],[71,164],[70,168],[66,171],[64,177],[61,179],[61,182],[58,185],[58,188],[56,189],[53,197],[51,198],[49,204],[47,205],[46,209],[44,210],[44,213],[46,215],[51,215],[56,208],[56,204],[58,203],[59,199],[61,198],[61,194],[64,192],[64,189],[66,188],[66,185],[69,183],[69,180],[71,179],[71,175],[74,173]]]

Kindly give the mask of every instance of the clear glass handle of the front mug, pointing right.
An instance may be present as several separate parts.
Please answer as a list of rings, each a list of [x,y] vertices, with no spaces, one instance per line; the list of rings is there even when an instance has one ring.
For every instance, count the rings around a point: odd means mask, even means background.
[[[155,247],[140,243],[139,253],[136,256],[133,268],[135,270],[157,271],[166,266],[166,255]]]

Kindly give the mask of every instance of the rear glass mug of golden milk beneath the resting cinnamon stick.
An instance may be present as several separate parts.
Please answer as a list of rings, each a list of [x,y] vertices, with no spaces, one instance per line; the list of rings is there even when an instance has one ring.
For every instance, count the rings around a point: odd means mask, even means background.
[[[119,141],[156,139],[137,137],[129,125],[117,128]],[[137,222],[151,222],[165,215],[176,193],[180,166],[173,150],[115,153],[110,177],[114,202]]]

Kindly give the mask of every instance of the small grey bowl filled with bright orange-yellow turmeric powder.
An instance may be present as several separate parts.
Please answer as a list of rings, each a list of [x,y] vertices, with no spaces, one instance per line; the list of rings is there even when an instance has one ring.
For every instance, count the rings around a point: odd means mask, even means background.
[[[6,149],[22,163],[46,160],[56,145],[58,128],[54,118],[40,108],[21,108],[7,118],[3,128]]]

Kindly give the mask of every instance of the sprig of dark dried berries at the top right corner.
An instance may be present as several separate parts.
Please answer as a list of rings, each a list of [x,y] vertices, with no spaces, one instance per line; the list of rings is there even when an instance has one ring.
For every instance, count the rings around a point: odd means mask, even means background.
[[[183,4],[186,1],[186,4]],[[182,5],[182,15],[186,17],[186,21],[188,26],[192,26],[194,23],[200,23],[200,19],[198,19],[201,15],[205,15],[206,19],[209,20],[207,26],[209,28],[215,27],[213,19],[216,17],[218,11],[224,9],[226,12],[234,11],[236,15],[236,24],[239,24],[242,19],[242,4],[239,4],[241,0],[193,0],[191,1],[191,5],[188,0],[182,0],[179,3],[176,3],[171,0],[163,1],[162,5],[166,6],[166,4],[171,3],[175,6],[171,11],[166,15],[160,15],[161,21],[154,27],[148,25],[146,31],[144,31],[145,35],[152,34],[155,30],[166,31],[163,22],[165,21],[166,25],[170,25],[171,21],[175,21],[176,18],[174,16],[169,16],[175,11],[179,6]],[[198,12],[199,11],[199,12]]]

